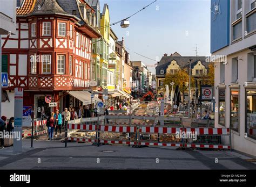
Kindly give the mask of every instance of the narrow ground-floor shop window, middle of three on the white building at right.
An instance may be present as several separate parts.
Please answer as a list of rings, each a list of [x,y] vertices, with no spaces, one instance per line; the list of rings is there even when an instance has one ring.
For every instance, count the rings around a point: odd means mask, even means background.
[[[239,131],[239,90],[231,89],[231,117],[230,128],[234,131]]]

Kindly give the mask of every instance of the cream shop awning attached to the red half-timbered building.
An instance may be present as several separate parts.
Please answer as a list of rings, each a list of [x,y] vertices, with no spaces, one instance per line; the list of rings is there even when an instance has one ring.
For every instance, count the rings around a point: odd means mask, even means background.
[[[91,93],[89,91],[70,91],[68,92],[69,95],[77,98],[83,105],[90,105],[91,104]],[[102,100],[93,96],[92,103],[101,102]]]

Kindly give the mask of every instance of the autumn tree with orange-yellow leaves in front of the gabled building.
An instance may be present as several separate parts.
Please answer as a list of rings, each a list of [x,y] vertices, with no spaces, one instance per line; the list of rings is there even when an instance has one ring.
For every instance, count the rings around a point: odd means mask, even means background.
[[[188,83],[189,83],[189,69],[188,68],[182,68],[176,71],[176,73],[171,74],[167,73],[165,80],[164,80],[164,85],[167,84],[169,85],[169,88],[171,88],[170,83],[174,82],[175,84],[173,85],[173,91],[176,87],[176,85],[179,86],[180,92],[183,94],[183,100],[184,98],[184,93],[186,90],[188,90]],[[194,85],[194,78],[191,76],[191,89]]]

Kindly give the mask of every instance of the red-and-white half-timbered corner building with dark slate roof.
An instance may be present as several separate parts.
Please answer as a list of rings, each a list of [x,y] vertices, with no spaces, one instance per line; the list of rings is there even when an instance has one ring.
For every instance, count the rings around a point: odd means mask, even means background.
[[[24,106],[35,106],[36,117],[42,107],[50,112],[46,95],[59,110],[90,104],[91,98],[76,98],[89,89],[92,38],[101,36],[95,10],[84,0],[23,0],[16,13],[16,35],[2,35],[2,63],[9,74],[3,114],[13,116],[16,87],[24,89]]]

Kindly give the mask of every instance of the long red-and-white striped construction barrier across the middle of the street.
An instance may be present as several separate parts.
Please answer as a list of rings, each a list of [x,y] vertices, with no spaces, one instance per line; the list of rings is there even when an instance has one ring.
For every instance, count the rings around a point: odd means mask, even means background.
[[[105,118],[119,119],[123,116],[110,115]],[[188,118],[166,118],[159,116],[129,116],[129,123],[99,123],[97,125],[87,124],[68,124],[69,130],[84,132],[93,132],[84,134],[84,136],[70,137],[68,140],[83,142],[112,143],[122,145],[138,146],[170,146],[170,147],[190,147],[190,148],[214,148],[214,149],[231,149],[230,129],[229,128],[211,128],[211,127],[191,127],[185,126]],[[158,126],[157,124],[131,123],[132,118],[154,118],[157,120],[179,121],[179,126]],[[103,120],[104,116],[100,119]],[[127,116],[126,116],[127,119]],[[190,119],[198,121],[200,119]],[[103,122],[103,121],[102,121]],[[185,123],[184,123],[185,122]],[[208,123],[204,120],[204,123]],[[105,125],[104,125],[105,124]]]

